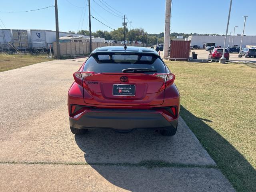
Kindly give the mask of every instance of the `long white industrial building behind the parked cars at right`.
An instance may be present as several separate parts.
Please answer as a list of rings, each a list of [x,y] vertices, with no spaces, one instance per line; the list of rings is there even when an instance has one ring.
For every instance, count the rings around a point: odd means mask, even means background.
[[[230,38],[230,44],[229,46],[240,46],[241,43],[241,38],[242,36],[234,36],[234,41],[232,45],[232,38],[233,36],[227,36],[226,39],[226,47],[228,47],[228,42]],[[191,43],[190,45],[199,45],[201,47],[205,46],[224,46],[224,40],[225,36],[215,36],[215,35],[192,35],[186,38],[185,40],[190,40]],[[243,37],[243,42],[242,42],[242,47],[245,47],[246,45],[256,45],[256,36],[244,36]]]

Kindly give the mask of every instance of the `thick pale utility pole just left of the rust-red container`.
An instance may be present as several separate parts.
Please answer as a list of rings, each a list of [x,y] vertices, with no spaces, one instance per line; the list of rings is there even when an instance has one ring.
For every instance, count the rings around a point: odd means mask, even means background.
[[[172,4],[172,0],[166,0],[165,27],[164,27],[164,57],[169,56],[171,4]]]

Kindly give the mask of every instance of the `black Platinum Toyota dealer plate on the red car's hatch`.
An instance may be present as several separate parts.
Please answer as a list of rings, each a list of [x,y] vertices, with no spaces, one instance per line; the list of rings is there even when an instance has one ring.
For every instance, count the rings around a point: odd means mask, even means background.
[[[116,96],[135,96],[135,85],[113,85],[113,95]]]

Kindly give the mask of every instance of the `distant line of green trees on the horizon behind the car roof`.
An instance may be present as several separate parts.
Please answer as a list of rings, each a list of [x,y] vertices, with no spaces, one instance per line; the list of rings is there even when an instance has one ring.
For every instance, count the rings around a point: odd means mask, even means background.
[[[74,31],[68,31],[75,33]],[[77,34],[82,34],[89,36],[89,31],[88,30],[79,30]],[[177,36],[183,36],[183,38],[187,38],[188,36],[191,35],[219,35],[219,34],[197,34],[197,33],[176,33],[173,32],[170,34],[170,39],[176,39]],[[124,40],[124,28],[120,27],[116,30],[113,31],[102,31],[102,30],[97,30],[96,32],[92,32],[92,36],[94,37],[100,37],[100,38],[105,38],[105,40],[116,40],[116,41],[123,41]],[[141,41],[144,43],[147,43],[148,45],[155,45],[157,44],[157,36],[158,36],[158,43],[163,43],[164,42],[164,33],[160,34],[147,34],[143,28],[136,28],[136,29],[131,29],[128,30],[126,28],[126,40],[129,41]]]

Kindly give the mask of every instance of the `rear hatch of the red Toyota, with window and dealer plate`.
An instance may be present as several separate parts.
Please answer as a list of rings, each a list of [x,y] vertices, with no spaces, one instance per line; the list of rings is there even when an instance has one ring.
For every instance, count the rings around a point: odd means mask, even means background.
[[[131,68],[152,71],[129,71]],[[151,106],[164,102],[164,79],[156,74],[166,73],[166,68],[159,56],[93,55],[84,66],[84,72],[88,71],[92,75],[83,79],[86,104]]]

